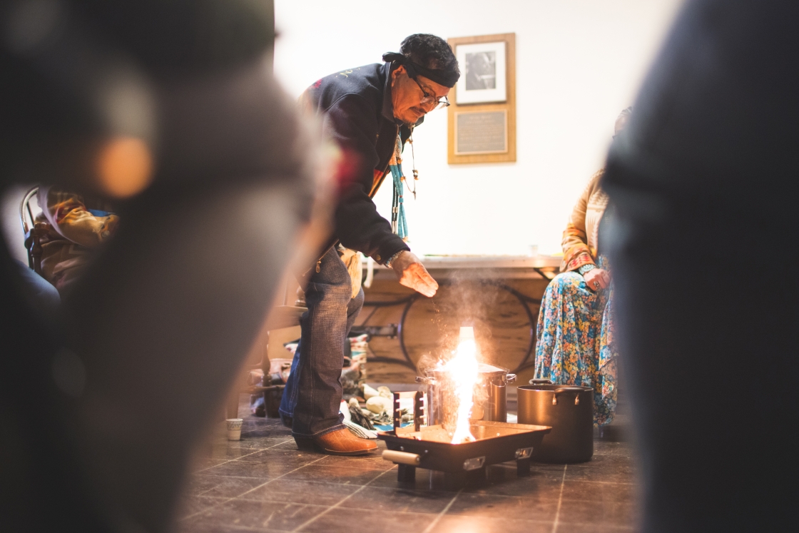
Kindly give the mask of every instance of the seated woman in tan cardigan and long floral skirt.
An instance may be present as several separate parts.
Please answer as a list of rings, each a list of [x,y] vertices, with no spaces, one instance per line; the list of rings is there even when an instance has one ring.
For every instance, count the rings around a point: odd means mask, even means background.
[[[626,125],[631,107],[616,119],[615,134]],[[613,421],[616,408],[616,352],[610,319],[610,270],[598,256],[599,221],[607,196],[591,177],[563,232],[565,271],[544,292],[535,346],[535,377],[554,384],[594,388],[594,425]]]

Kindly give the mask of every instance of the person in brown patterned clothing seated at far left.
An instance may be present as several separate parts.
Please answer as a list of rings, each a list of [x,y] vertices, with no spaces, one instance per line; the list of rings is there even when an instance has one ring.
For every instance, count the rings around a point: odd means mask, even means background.
[[[108,239],[119,217],[100,199],[51,187],[38,192],[42,215],[50,229],[42,238],[42,276],[63,293],[89,262],[93,249]]]

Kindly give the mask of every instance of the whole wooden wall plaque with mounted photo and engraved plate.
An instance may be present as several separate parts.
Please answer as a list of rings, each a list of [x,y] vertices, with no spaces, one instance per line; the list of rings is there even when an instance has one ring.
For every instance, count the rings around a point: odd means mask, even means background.
[[[516,161],[515,34],[447,42],[461,73],[447,108],[447,162]]]

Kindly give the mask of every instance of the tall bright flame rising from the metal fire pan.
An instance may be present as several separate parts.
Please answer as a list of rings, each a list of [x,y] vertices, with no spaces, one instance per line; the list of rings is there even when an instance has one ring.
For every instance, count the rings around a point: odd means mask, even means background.
[[[456,409],[455,432],[452,444],[461,444],[476,440],[471,434],[469,417],[474,405],[474,390],[478,380],[477,344],[475,330],[471,327],[460,328],[458,349],[455,357],[443,365],[452,382],[455,384],[454,395],[458,402]]]

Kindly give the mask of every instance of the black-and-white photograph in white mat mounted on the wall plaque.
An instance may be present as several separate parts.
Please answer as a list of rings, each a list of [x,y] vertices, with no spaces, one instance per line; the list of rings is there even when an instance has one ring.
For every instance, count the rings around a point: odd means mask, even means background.
[[[461,68],[457,104],[507,101],[505,42],[475,42],[455,46]]]

